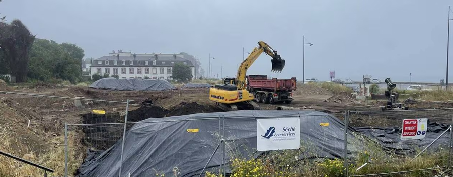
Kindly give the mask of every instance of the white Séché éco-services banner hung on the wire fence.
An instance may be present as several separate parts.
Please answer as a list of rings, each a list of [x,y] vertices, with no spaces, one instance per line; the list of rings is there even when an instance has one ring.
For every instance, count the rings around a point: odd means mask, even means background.
[[[256,150],[284,150],[300,147],[300,119],[273,118],[256,120]]]

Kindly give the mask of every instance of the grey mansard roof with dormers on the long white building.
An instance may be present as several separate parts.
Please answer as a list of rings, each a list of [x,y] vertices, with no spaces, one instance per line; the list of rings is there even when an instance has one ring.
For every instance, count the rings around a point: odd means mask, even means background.
[[[105,61],[108,60],[109,64],[106,65]],[[114,65],[113,61],[117,60],[117,65]],[[187,62],[187,66],[193,67],[193,64],[190,60],[181,58],[181,57],[158,57],[156,60],[156,65],[153,65],[153,61],[155,60],[155,57],[149,57],[149,56],[120,56],[119,60],[117,56],[103,56],[101,58],[93,60],[93,63],[91,64],[91,67],[120,67],[120,66],[127,66],[127,67],[153,67],[153,66],[173,66],[176,63],[184,63]],[[98,64],[98,61],[102,61],[102,64]],[[121,65],[121,62],[125,61],[125,65]],[[130,65],[130,61],[133,61],[133,64]],[[140,64],[138,64],[138,61],[140,61]],[[145,65],[144,61],[148,61],[148,65]],[[173,63],[172,63],[173,62]]]

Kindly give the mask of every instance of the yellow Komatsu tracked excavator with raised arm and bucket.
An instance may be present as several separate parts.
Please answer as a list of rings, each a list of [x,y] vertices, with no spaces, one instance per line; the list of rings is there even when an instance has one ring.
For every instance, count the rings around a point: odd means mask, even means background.
[[[285,67],[285,60],[281,59],[277,51],[265,42],[258,42],[253,51],[247,56],[238,68],[236,78],[224,78],[223,85],[215,85],[209,89],[209,100],[216,102],[217,106],[225,111],[259,110],[260,106],[253,102],[254,96],[246,88],[247,69],[261,55],[266,53],[272,57],[272,71],[281,72]]]

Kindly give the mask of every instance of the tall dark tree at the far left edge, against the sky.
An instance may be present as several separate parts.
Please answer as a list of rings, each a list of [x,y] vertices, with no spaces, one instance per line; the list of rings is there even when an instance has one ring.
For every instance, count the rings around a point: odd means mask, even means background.
[[[16,77],[16,82],[24,82],[28,72],[29,52],[35,36],[20,20],[10,24],[0,22],[0,50],[9,72]]]

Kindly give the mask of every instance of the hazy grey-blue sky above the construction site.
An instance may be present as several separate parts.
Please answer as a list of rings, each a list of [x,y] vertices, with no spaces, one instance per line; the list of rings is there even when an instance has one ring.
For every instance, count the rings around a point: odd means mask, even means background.
[[[262,40],[286,67],[272,74],[263,54],[248,74],[301,80],[305,35],[314,44],[305,48],[306,78],[328,80],[335,70],[341,79],[370,74],[409,81],[412,73],[412,81],[439,82],[445,78],[448,5],[453,2],[4,0],[0,13],[22,20],[39,38],[81,46],[86,57],[118,49],[187,52],[207,69],[211,53],[213,73],[220,77],[223,66],[223,76],[234,76],[242,47],[249,52]]]

